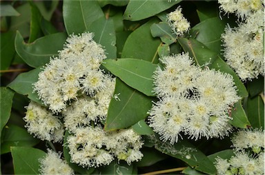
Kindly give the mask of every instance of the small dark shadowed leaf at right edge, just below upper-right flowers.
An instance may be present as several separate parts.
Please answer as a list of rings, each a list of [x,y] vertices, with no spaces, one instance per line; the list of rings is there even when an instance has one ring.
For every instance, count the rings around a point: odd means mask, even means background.
[[[264,92],[264,76],[248,81],[248,93],[251,98],[261,92]]]

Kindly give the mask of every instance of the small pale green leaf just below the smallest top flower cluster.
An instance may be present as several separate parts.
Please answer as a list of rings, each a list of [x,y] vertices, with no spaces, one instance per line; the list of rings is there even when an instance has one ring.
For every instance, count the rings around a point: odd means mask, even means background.
[[[177,41],[177,36],[166,22],[153,23],[151,25],[151,34],[153,37],[160,37],[161,41],[170,45]]]

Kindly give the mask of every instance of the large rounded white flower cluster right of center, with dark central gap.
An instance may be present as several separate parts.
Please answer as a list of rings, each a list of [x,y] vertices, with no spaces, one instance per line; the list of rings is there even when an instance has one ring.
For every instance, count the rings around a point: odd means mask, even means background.
[[[190,138],[220,137],[232,130],[230,107],[239,100],[233,77],[202,70],[186,54],[164,56],[154,72],[159,101],[148,112],[150,127],[164,141],[177,143],[180,132]]]

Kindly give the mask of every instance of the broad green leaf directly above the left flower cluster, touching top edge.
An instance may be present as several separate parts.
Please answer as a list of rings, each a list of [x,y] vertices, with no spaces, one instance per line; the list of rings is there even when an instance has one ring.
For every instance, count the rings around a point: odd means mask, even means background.
[[[101,17],[104,13],[97,1],[63,1],[63,21],[68,34],[83,33]]]

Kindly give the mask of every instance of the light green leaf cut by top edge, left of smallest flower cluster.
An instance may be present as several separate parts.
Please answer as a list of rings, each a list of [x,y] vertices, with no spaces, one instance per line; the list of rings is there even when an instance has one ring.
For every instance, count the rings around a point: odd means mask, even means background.
[[[164,1],[164,0],[142,0],[142,1],[129,1],[128,6],[124,12],[124,19],[130,21],[139,21],[159,14],[168,8],[171,8],[177,1]]]

